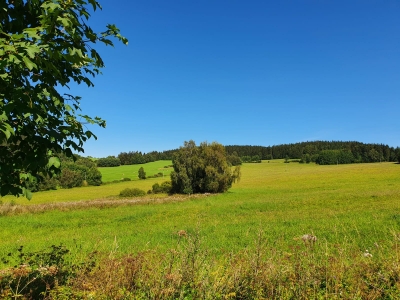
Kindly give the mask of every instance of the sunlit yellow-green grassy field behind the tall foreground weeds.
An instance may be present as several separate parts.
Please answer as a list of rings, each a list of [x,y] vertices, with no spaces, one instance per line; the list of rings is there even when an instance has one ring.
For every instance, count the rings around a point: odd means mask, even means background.
[[[20,199],[17,203],[105,198],[128,186],[147,190],[156,181],[49,192],[52,197],[37,193],[31,202]],[[182,239],[177,233],[181,231],[199,239],[196,247],[219,260],[254,252],[261,240],[268,257],[289,255],[302,260],[296,253],[306,257],[309,252],[301,236],[313,234],[318,238],[312,254],[318,263],[313,268],[330,264],[327,258],[331,256],[342,257],[340,270],[353,260],[364,266],[361,259],[368,250],[381,264],[393,258],[397,264],[390,261],[390,266],[400,272],[399,186],[400,165],[394,163],[318,166],[277,160],[245,164],[242,180],[225,194],[1,216],[0,257],[20,245],[33,251],[60,243],[77,259],[93,250],[166,253],[179,249]],[[289,260],[272,265],[278,268],[289,262],[295,266]],[[321,268],[314,271],[322,272]]]

